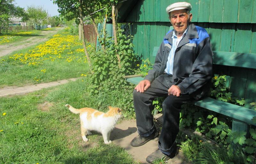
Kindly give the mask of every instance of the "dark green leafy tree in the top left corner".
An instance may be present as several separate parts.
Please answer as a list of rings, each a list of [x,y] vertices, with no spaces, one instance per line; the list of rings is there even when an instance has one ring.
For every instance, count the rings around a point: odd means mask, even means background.
[[[14,0],[0,0],[0,33],[1,29],[8,30],[9,19],[11,17],[20,17],[22,21],[28,19],[24,8],[15,6]]]

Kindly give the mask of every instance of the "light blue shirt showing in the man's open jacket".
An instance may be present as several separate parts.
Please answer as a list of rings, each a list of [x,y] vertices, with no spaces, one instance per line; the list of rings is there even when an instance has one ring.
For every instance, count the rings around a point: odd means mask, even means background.
[[[169,75],[172,75],[172,72],[173,72],[173,60],[174,60],[174,54],[177,49],[177,46],[179,45],[180,40],[185,36],[185,34],[187,34],[187,32],[188,32],[188,28],[185,30],[185,32],[180,38],[177,37],[177,35],[175,34],[175,31],[173,31],[172,33],[172,49],[169,53],[168,60],[166,63],[166,68],[164,70]]]

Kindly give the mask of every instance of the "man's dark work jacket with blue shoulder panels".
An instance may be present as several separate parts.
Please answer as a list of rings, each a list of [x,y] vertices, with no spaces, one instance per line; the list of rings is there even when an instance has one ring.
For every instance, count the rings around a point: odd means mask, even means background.
[[[172,33],[169,31],[156,54],[152,70],[144,78],[152,82],[164,74],[168,55],[172,48]],[[173,75],[175,85],[181,94],[193,96],[196,100],[205,95],[206,84],[212,77],[212,48],[209,35],[202,27],[190,24],[187,34],[182,38],[174,55]]]

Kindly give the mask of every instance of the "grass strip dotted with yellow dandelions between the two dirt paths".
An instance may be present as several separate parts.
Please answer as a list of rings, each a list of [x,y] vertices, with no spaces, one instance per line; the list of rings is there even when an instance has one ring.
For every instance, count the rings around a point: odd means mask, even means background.
[[[67,36],[67,32],[61,31],[61,37],[59,38],[63,39]],[[70,36],[70,38],[72,39],[72,36]],[[76,51],[82,49],[82,45],[77,40],[77,37],[76,44],[70,43],[73,42],[73,40],[69,42],[63,41],[59,47],[54,47],[56,46],[55,42],[58,42],[58,40],[56,40],[56,38],[52,40],[52,42],[49,40],[50,43],[48,44],[37,45],[38,48],[36,48],[37,46],[34,48],[26,48],[19,51],[19,53],[16,52],[12,55],[1,57],[1,87],[13,85],[23,86],[81,77],[82,74],[88,71],[87,63],[84,63],[84,53],[82,51]],[[63,49],[63,47],[68,47],[69,49]],[[53,52],[53,49],[56,50],[56,52]],[[48,53],[45,54],[46,51]],[[52,52],[49,53],[49,51]],[[61,53],[57,51],[61,51]],[[37,55],[36,57],[33,56],[35,54]],[[38,56],[38,54],[41,56]],[[34,64],[36,63],[35,61],[40,63]],[[29,62],[32,64],[29,64]]]

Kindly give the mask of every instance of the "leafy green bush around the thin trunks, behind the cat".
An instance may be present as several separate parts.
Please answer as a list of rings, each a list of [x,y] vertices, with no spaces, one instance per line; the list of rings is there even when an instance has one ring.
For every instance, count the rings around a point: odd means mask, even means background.
[[[111,37],[107,38],[102,42],[105,46],[105,51],[102,50],[90,54],[93,74],[88,75],[91,85],[87,89],[92,95],[97,95],[104,91],[124,91],[122,102],[132,112],[134,111],[132,106],[132,90],[134,86],[126,82],[123,76],[134,74],[137,58],[132,50],[131,36],[127,38],[119,31],[117,43],[115,45]],[[120,55],[121,68],[118,67],[116,53]]]

